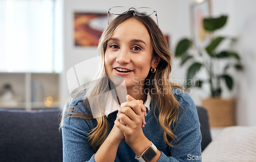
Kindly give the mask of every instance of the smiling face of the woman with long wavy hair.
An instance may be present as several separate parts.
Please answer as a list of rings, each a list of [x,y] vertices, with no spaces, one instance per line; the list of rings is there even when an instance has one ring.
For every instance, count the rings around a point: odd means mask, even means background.
[[[108,40],[105,52],[106,74],[110,78],[112,75],[123,77],[127,89],[134,85],[142,87],[151,67],[157,66],[156,60],[150,34],[137,19],[123,21]]]

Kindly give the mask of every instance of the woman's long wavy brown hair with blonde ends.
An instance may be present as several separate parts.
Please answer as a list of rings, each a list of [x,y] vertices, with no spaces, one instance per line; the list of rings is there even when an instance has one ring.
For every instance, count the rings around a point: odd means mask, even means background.
[[[113,21],[110,22],[108,27],[106,27],[106,29],[103,31],[100,37],[97,49],[97,53],[100,57],[101,62],[101,67],[97,78],[100,79],[97,79],[86,89],[84,103],[88,103],[88,97],[103,94],[103,92],[105,92],[106,89],[108,89],[110,79],[105,74],[104,61],[104,55],[108,44],[108,40],[112,37],[115,29],[123,21],[129,18],[135,18],[142,22],[142,24],[146,27],[148,33],[150,34],[151,42],[153,45],[153,55],[161,58],[156,68],[156,72],[149,72],[148,76],[145,78],[145,81],[149,81],[151,83],[145,83],[145,88],[149,89],[149,91],[151,92],[152,101],[155,103],[155,106],[153,107],[154,113],[156,112],[156,110],[158,111],[159,115],[157,117],[155,113],[155,117],[158,119],[158,122],[164,131],[164,141],[166,142],[167,145],[173,146],[172,141],[176,136],[170,129],[170,127],[172,123],[175,126],[175,123],[178,120],[180,104],[176,100],[172,89],[183,88],[176,83],[170,82],[169,80],[169,75],[170,72],[172,71],[172,54],[169,51],[168,44],[163,33],[158,28],[156,22],[150,16],[137,16],[134,14],[134,11],[129,11],[126,14],[119,15],[118,17],[116,17]],[[99,100],[99,98],[95,98],[94,103],[102,103],[97,102]],[[104,142],[106,135],[108,133],[108,120],[106,119],[104,112],[100,108],[101,106],[102,105],[98,105],[98,108],[94,110],[94,113],[97,114],[97,125],[90,131],[89,135],[91,147],[93,147],[94,149],[96,147],[99,147]],[[67,109],[71,111],[69,113],[65,113]],[[84,115],[82,113],[72,111],[72,107],[68,106],[67,108],[64,108],[62,111],[62,119],[60,126],[62,125],[63,120],[65,120],[65,117],[68,114],[68,117],[78,117],[84,119],[93,118],[92,114]]]

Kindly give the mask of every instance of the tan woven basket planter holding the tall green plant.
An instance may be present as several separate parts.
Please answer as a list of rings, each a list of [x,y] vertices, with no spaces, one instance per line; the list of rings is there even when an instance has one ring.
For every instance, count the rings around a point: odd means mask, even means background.
[[[202,101],[207,110],[210,127],[234,125],[234,99],[208,98]]]

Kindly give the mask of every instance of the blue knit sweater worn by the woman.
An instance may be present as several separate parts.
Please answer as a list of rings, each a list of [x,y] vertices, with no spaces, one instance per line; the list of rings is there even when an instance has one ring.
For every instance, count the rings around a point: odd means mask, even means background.
[[[143,129],[148,140],[152,141],[161,152],[158,161],[201,161],[201,131],[196,106],[186,92],[173,89],[175,98],[179,101],[180,108],[178,122],[170,129],[177,136],[172,145],[168,146],[163,138],[163,129],[154,115],[154,101],[151,101],[150,111],[145,117],[146,125]],[[78,96],[72,100],[69,106],[75,106],[75,111],[85,115],[90,114],[90,108],[83,104],[84,96]],[[158,116],[157,109],[155,114]],[[67,110],[66,113],[69,111]],[[108,116],[108,133],[114,126],[117,111]],[[63,143],[63,161],[95,161],[94,155],[97,151],[90,147],[88,135],[90,130],[96,126],[95,119],[81,119],[66,117],[61,126]],[[135,153],[129,145],[122,141],[118,147],[115,161],[137,161]]]

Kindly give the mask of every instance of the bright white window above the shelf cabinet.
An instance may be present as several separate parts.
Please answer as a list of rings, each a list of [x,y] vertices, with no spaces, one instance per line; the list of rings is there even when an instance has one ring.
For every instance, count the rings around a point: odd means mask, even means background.
[[[54,0],[0,1],[0,72],[55,72]]]

